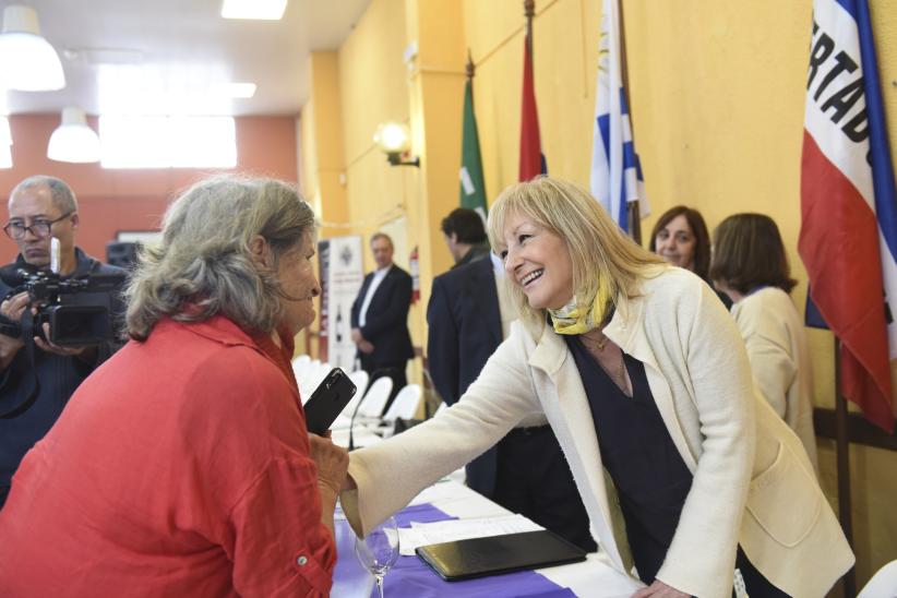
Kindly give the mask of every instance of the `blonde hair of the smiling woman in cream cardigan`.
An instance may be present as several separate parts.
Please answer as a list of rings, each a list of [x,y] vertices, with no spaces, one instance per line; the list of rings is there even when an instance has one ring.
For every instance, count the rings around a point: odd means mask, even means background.
[[[521,182],[501,192],[489,207],[489,242],[501,253],[507,222],[523,216],[560,237],[573,266],[578,304],[590,304],[600,282],[610,284],[611,301],[636,297],[641,278],[656,275],[663,260],[630,239],[591,194],[570,181],[548,176]],[[517,285],[510,285],[524,319],[545,321],[545,310],[529,307]]]

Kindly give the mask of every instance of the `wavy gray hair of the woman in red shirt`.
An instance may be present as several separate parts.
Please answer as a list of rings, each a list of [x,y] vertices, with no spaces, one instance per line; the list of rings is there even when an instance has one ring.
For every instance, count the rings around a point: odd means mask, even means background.
[[[125,291],[128,334],[145,340],[164,316],[195,322],[217,313],[271,332],[283,311],[277,263],[314,231],[311,207],[289,183],[220,176],[194,184],[166,212],[162,244],[139,256]],[[253,262],[255,236],[271,247],[275,272]]]

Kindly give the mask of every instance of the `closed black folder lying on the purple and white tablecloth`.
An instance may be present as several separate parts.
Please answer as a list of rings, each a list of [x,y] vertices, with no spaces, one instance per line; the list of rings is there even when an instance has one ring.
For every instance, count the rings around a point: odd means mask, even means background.
[[[422,546],[417,555],[446,582],[586,560],[586,551],[547,529]]]

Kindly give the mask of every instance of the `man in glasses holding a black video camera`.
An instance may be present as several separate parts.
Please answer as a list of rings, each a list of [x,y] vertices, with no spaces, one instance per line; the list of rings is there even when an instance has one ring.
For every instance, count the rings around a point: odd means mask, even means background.
[[[0,268],[0,507],[22,457],[79,384],[120,346],[112,320],[123,311],[125,274],[75,247],[77,202],[65,182],[29,177],[13,189],[8,208],[3,231],[20,253]],[[97,279],[106,282],[99,292],[91,285]],[[72,302],[86,307],[72,310]],[[58,303],[70,311],[49,318]],[[93,326],[97,318],[105,328],[86,334],[99,336],[77,336],[85,334],[81,320]],[[76,344],[80,338],[84,344]]]

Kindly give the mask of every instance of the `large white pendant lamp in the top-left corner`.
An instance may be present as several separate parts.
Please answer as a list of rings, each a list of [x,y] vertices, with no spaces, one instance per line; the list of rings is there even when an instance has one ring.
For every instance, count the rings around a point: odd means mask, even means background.
[[[29,7],[3,9],[0,84],[21,92],[51,92],[65,86],[59,55],[40,36],[37,13]]]

